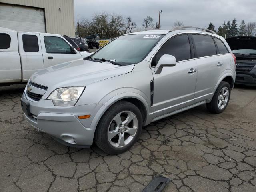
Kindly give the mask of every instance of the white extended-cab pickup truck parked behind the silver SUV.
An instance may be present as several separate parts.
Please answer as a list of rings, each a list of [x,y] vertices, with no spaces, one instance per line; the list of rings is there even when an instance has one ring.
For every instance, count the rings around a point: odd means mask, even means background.
[[[61,35],[0,27],[0,86],[27,82],[39,70],[89,56]]]

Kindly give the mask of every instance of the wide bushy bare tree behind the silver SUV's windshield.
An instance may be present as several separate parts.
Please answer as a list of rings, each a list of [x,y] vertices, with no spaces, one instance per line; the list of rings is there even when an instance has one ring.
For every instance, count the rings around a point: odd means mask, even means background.
[[[86,34],[98,34],[100,38],[110,38],[124,33],[125,22],[122,15],[101,12],[94,14],[92,20],[82,19],[80,28]]]

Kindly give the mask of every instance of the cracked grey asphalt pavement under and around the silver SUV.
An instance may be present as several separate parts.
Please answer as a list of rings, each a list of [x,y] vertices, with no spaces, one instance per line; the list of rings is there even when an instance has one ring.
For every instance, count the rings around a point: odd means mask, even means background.
[[[25,120],[25,85],[0,88],[1,192],[140,192],[155,175],[165,192],[256,191],[256,88],[232,90],[228,108],[205,106],[144,127],[128,152],[71,148]]]

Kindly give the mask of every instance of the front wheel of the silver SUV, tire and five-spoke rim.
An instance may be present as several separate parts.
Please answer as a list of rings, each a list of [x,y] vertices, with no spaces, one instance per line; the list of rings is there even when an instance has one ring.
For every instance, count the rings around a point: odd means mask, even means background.
[[[134,145],[141,130],[142,114],[138,107],[120,101],[108,108],[100,119],[94,141],[104,152],[120,154]]]

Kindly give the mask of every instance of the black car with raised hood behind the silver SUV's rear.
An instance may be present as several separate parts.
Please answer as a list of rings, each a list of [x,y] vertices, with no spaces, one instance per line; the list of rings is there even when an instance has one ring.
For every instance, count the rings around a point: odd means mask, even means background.
[[[256,37],[226,39],[236,56],[236,84],[256,86]]]

